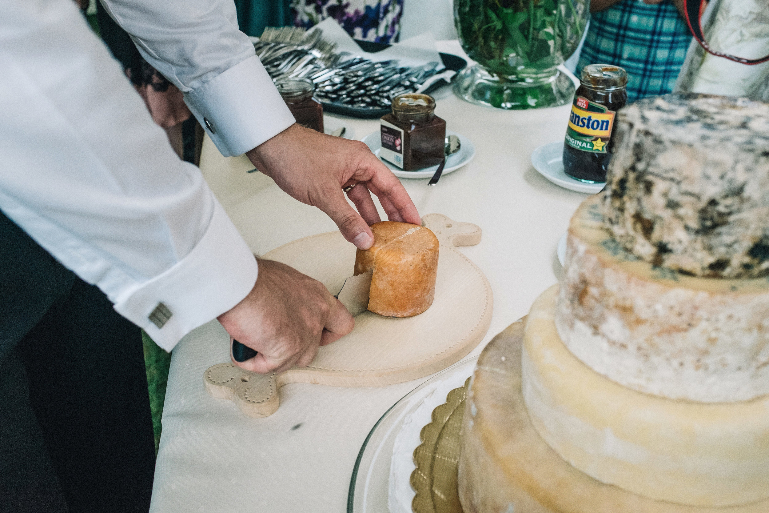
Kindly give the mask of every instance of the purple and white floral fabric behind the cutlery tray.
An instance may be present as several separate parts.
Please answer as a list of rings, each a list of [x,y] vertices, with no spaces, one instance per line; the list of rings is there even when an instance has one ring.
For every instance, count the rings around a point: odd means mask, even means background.
[[[403,0],[291,0],[294,25],[310,28],[334,18],[355,39],[398,42]]]

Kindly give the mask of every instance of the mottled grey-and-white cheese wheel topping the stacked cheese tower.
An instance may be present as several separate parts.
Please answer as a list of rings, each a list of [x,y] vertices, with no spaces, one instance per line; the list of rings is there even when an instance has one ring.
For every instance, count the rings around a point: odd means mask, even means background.
[[[695,276],[769,275],[769,105],[644,98],[611,140],[604,215],[622,247]]]

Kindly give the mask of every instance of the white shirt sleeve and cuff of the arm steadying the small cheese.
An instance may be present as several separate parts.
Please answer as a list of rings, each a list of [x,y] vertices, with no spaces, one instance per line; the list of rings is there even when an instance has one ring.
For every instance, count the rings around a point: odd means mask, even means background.
[[[295,122],[232,0],[102,0],[141,55],[185,95],[225,157],[261,145]]]

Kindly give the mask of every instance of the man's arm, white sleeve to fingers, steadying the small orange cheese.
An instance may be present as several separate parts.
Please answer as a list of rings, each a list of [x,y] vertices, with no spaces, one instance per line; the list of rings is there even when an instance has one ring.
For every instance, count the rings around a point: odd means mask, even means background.
[[[238,31],[232,2],[102,4],[147,61],[185,92],[185,102],[222,155],[247,153],[285,192],[331,216],[350,242],[362,232],[370,239],[368,225],[379,221],[368,191],[378,195],[391,220],[421,222],[398,179],[365,145],[340,138],[331,143],[294,125],[253,45]],[[270,157],[278,154],[287,158]],[[349,194],[362,218],[341,193],[353,183],[362,184]]]

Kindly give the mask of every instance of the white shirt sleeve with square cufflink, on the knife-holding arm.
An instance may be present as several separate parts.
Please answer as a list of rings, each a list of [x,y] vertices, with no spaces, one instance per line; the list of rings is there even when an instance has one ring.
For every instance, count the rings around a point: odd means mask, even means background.
[[[70,0],[0,2],[0,209],[171,350],[254,256]]]

